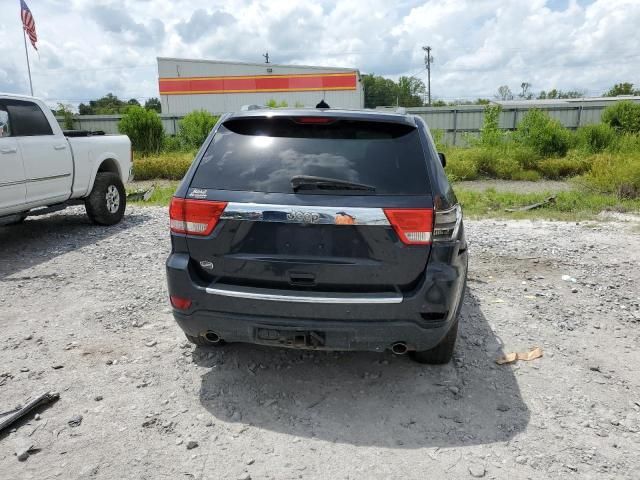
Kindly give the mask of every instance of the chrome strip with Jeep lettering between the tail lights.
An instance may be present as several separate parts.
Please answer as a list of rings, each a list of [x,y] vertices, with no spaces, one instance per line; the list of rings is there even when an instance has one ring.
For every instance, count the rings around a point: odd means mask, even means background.
[[[390,225],[381,208],[230,202],[220,220],[317,225]]]

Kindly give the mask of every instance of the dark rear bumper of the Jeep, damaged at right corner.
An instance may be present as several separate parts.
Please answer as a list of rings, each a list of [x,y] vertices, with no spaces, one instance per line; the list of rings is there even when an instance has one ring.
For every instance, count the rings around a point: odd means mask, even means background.
[[[404,342],[409,350],[428,350],[447,334],[457,315],[467,273],[463,243],[434,247],[414,291],[400,298],[381,294],[377,302],[356,294],[207,285],[183,253],[172,253],[167,260],[169,294],[191,299],[190,309],[174,309],[174,317],[194,337],[215,332],[227,342],[325,350],[383,351]]]

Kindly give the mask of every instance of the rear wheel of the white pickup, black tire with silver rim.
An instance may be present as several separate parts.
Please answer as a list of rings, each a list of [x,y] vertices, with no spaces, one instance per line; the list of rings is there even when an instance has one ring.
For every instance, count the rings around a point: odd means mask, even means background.
[[[127,195],[118,174],[98,173],[84,206],[91,221],[98,225],[114,225],[122,220]]]

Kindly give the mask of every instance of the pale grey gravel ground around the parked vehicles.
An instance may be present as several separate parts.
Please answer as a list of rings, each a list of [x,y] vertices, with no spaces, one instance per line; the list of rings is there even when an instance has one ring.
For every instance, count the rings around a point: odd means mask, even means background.
[[[637,223],[467,222],[440,367],[192,347],[167,304],[167,223],[130,207],[111,228],[80,209],[0,228],[0,411],[60,392],[0,435],[3,479],[638,478]]]

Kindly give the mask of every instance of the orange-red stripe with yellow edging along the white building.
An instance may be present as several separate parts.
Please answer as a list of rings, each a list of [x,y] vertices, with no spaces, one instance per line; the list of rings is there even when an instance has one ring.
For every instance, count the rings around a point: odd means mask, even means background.
[[[160,95],[355,90],[356,72],[160,78]]]

